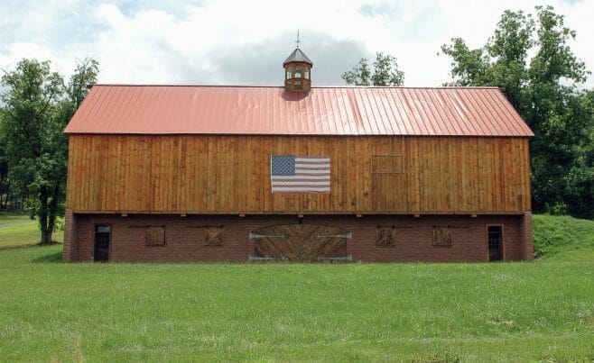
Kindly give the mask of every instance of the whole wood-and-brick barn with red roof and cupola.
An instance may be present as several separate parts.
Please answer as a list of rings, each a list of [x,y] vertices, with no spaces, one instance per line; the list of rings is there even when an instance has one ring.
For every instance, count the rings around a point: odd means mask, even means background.
[[[528,141],[496,87],[93,86],[69,135],[67,261],[533,256]]]

